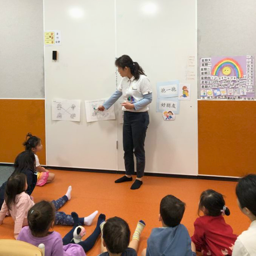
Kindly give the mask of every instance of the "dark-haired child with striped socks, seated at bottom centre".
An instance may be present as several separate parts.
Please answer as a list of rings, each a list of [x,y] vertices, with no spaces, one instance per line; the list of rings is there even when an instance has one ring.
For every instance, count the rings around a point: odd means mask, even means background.
[[[145,227],[140,220],[130,241],[130,229],[127,222],[113,217],[100,225],[102,233],[101,256],[137,256],[140,234]]]

